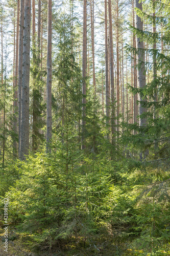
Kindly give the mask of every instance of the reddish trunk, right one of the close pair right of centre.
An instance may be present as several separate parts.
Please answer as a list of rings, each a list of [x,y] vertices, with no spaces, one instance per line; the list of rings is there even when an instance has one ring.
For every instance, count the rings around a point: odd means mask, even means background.
[[[110,83],[111,83],[111,133],[112,144],[115,139],[115,98],[114,98],[114,65],[113,65],[113,32],[112,32],[112,6],[108,1],[109,11],[109,50],[110,50]]]

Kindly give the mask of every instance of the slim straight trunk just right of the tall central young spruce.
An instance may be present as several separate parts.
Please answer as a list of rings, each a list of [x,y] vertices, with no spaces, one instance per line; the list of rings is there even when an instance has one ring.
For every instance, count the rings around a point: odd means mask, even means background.
[[[82,150],[85,148],[86,126],[86,68],[87,68],[87,0],[83,0],[83,59],[82,59]]]

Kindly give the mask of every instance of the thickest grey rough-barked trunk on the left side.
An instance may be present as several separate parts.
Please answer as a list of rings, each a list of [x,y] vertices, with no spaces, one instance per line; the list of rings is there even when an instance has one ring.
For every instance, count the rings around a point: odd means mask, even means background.
[[[22,62],[22,101],[21,101],[21,134],[20,159],[25,160],[29,153],[29,83],[30,83],[30,27],[31,0],[25,0],[23,62]]]

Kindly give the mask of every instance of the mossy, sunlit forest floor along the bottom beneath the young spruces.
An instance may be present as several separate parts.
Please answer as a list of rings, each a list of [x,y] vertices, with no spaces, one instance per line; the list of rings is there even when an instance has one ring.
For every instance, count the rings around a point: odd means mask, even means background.
[[[19,234],[15,229],[9,230],[9,241],[8,241],[8,252],[4,251],[4,235],[3,229],[0,228],[0,255],[1,256],[120,256],[120,255],[136,255],[125,248],[125,244],[114,245],[110,241],[102,240],[95,241],[95,244],[88,244],[84,247],[84,243],[79,241],[77,247],[73,241],[68,241],[67,243],[55,244],[52,250],[49,250],[48,246],[39,245],[32,247],[31,239],[25,234]]]

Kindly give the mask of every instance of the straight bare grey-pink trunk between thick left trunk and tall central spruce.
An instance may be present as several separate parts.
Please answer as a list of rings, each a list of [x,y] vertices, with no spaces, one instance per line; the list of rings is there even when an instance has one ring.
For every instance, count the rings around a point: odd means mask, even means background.
[[[52,140],[52,0],[48,0],[48,40],[46,78],[46,152],[51,153]]]

